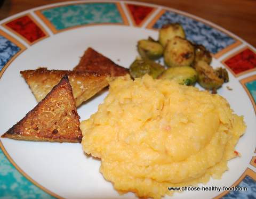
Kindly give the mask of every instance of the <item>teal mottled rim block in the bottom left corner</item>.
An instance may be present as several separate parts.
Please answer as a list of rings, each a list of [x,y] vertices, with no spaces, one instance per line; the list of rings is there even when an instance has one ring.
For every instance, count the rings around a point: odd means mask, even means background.
[[[32,184],[7,160],[0,149],[0,199],[54,198]]]

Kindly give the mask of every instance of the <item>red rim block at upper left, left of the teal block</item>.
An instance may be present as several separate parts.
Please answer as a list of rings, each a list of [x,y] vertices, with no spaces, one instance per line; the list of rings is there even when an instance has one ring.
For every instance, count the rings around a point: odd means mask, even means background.
[[[6,23],[5,26],[25,37],[30,43],[46,36],[41,28],[39,28],[28,15],[14,19],[13,21]]]

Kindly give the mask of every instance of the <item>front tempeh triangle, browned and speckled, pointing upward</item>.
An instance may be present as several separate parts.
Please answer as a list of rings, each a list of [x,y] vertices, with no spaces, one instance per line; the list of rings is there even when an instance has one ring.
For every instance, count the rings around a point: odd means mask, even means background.
[[[66,75],[33,110],[2,137],[78,143],[82,140],[79,124],[72,88]]]

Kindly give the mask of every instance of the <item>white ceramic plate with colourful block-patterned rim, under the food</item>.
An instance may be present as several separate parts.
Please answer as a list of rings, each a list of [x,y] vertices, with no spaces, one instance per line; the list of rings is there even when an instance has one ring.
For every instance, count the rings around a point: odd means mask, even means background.
[[[250,181],[255,180],[256,171],[253,162],[256,141],[253,107],[253,97],[256,96],[256,62],[253,62],[253,59],[256,60],[253,58],[253,54],[256,57],[255,49],[210,22],[167,7],[135,2],[66,2],[38,7],[3,20],[0,27],[2,134],[37,104],[19,71],[42,66],[72,70],[87,47],[93,47],[128,68],[138,55],[137,41],[148,36],[157,39],[155,28],[166,21],[182,23],[190,40],[203,42],[213,53],[214,67],[228,67],[230,81],[218,93],[228,100],[235,113],[244,115],[247,125],[245,135],[236,146],[242,156],[228,162],[229,171],[223,174],[222,179],[210,180],[206,186],[223,187],[243,183],[249,187],[249,191],[183,192],[175,193],[175,198],[212,198],[220,197],[220,194],[227,194],[225,197],[230,198],[250,194],[256,197],[255,184]],[[250,60],[246,62],[247,54],[252,54],[251,65]],[[239,68],[239,64],[237,66],[236,59],[243,63],[242,67]],[[244,67],[246,64],[249,67]],[[81,121],[97,111],[106,95],[107,91],[78,108]],[[81,144],[1,138],[1,148],[22,175],[55,197],[135,197],[132,193],[119,196],[99,172],[100,161],[86,156]],[[6,157],[0,157],[0,196],[50,197],[6,163]]]

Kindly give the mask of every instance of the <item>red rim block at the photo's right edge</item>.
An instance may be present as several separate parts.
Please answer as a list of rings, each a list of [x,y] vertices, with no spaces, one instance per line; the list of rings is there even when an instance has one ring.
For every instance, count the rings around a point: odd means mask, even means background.
[[[251,49],[236,54],[225,61],[225,64],[233,70],[235,74],[256,68],[256,54]]]

